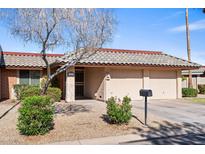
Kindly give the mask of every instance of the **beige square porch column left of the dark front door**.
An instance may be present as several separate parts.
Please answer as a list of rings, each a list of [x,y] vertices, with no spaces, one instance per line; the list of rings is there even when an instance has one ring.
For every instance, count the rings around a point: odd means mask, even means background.
[[[75,68],[66,70],[66,102],[75,101]]]

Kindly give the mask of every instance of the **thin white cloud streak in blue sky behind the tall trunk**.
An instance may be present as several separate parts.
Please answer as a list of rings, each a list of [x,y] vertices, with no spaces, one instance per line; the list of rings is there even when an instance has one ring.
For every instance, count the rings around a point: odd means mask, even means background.
[[[205,19],[190,23],[189,29],[190,29],[190,31],[205,29]],[[184,32],[184,31],[186,31],[186,25],[184,24],[181,26],[173,27],[173,28],[169,29],[169,31],[171,31],[171,32]]]

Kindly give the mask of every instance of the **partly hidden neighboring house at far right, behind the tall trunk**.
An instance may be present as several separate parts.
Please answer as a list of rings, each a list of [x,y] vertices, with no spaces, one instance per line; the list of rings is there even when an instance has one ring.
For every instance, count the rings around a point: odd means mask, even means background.
[[[205,85],[205,66],[200,67],[199,69],[192,70],[192,83],[193,88],[198,89],[198,85],[204,84]],[[183,81],[182,87],[188,87],[188,79],[189,79],[189,71],[184,70],[182,71]]]

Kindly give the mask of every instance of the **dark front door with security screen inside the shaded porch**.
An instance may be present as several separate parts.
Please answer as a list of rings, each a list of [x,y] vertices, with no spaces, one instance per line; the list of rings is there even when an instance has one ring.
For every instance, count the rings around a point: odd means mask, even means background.
[[[75,69],[75,97],[77,99],[84,97],[84,69],[83,68]]]

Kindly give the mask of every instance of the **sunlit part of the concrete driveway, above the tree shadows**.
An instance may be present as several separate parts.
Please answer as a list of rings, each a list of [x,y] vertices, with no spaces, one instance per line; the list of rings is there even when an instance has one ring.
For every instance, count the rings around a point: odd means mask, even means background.
[[[133,101],[133,107],[143,110],[144,102]],[[149,113],[180,123],[205,124],[205,105],[193,104],[183,99],[148,100],[148,116]]]

